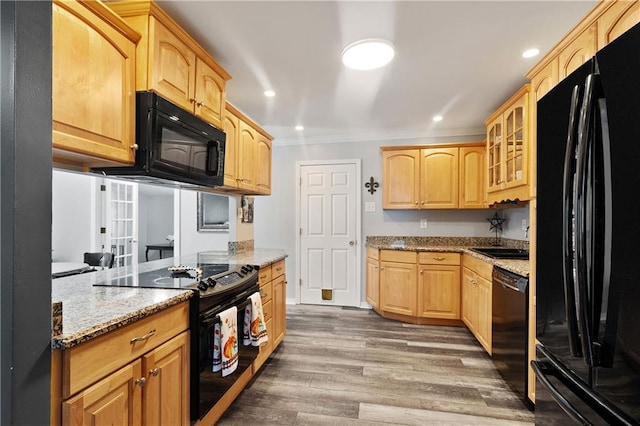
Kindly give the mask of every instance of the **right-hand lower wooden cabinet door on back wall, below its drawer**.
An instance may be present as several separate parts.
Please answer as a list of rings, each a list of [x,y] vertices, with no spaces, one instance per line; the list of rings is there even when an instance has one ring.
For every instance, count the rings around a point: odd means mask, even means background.
[[[418,315],[460,319],[460,267],[420,265]]]

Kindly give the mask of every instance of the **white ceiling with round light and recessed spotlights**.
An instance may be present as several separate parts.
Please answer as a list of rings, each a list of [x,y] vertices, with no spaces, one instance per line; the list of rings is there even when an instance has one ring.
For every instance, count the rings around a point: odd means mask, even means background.
[[[596,1],[158,3],[231,74],[227,99],[287,144],[482,134]],[[390,40],[393,62],[344,68],[362,38]],[[541,55],[522,59],[531,47]]]

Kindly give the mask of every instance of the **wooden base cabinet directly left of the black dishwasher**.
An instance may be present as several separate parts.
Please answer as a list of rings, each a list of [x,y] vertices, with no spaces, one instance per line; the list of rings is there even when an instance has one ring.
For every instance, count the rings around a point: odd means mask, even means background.
[[[462,256],[462,321],[491,355],[491,273],[493,266]]]

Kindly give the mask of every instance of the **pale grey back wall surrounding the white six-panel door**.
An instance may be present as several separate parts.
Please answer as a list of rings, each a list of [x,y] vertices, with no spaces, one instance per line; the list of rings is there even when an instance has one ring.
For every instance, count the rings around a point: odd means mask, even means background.
[[[255,201],[255,246],[284,249],[287,258],[287,275],[289,282],[293,283],[296,277],[296,162],[312,160],[337,160],[337,159],[361,159],[362,160],[362,184],[373,176],[380,188],[374,194],[370,194],[366,188],[362,188],[362,237],[374,235],[397,236],[465,236],[465,237],[491,237],[488,218],[492,217],[495,210],[382,210],[382,155],[381,146],[392,145],[420,145],[438,144],[447,142],[472,142],[482,141],[484,135],[456,138],[437,138],[430,140],[398,140],[382,142],[348,142],[348,143],[322,143],[313,145],[278,145],[273,144],[272,164],[272,193],[270,197],[256,197]],[[375,212],[365,212],[364,204],[375,202]],[[505,232],[502,236],[512,239],[524,239],[520,229],[522,214],[526,215],[528,222],[528,208],[501,210],[500,216],[513,216],[505,222]],[[420,228],[420,219],[427,219],[427,228]],[[512,228],[517,223],[517,229]],[[361,241],[360,244],[364,244]],[[365,250],[362,250],[362,262],[364,265]],[[364,267],[361,274],[364,281]],[[296,297],[297,286],[287,287],[287,298]],[[364,292],[364,282],[362,283]],[[364,300],[364,297],[362,297]]]

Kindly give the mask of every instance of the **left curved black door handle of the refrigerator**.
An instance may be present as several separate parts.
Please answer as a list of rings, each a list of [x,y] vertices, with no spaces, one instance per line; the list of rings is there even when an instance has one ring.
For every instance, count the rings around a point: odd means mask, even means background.
[[[580,95],[580,86],[576,85],[571,94],[571,109],[569,112],[569,127],[567,131],[567,146],[564,154],[564,171],[562,186],[562,252],[563,252],[563,285],[565,293],[565,309],[567,326],[569,329],[569,346],[571,355],[581,356],[582,350],[580,346],[580,337],[578,332],[576,309],[575,309],[575,291],[574,291],[574,256],[573,256],[573,240],[574,240],[574,212],[575,205],[573,199],[575,175],[576,175],[576,137],[578,127],[578,113]]]

